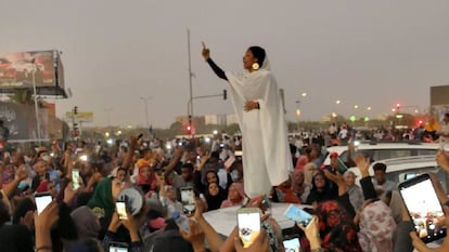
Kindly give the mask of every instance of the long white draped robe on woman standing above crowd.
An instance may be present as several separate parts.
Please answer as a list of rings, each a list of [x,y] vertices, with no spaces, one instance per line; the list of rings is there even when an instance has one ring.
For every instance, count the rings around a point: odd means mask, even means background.
[[[243,137],[243,180],[247,196],[269,194],[293,169],[284,109],[274,77],[267,69],[235,76],[226,72]],[[244,111],[246,101],[260,109]]]

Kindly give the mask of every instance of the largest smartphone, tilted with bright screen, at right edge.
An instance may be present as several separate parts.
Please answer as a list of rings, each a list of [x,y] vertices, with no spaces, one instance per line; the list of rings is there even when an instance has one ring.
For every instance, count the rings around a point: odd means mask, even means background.
[[[428,174],[400,183],[399,193],[421,240],[446,237],[445,213]]]

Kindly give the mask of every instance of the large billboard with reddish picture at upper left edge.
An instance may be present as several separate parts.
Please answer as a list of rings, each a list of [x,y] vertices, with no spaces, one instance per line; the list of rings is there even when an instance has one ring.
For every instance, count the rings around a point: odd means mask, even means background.
[[[65,96],[64,68],[59,51],[0,54],[1,92],[34,85],[38,94]]]

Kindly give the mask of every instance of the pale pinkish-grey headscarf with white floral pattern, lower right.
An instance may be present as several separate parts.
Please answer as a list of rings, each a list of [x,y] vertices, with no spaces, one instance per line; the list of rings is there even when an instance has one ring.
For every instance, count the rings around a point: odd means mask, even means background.
[[[393,251],[396,223],[392,210],[382,200],[368,204],[360,212],[359,243],[363,251]]]

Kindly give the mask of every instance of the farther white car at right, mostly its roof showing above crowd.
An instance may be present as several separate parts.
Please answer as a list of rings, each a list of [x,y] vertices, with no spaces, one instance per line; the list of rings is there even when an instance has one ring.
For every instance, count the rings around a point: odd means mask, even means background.
[[[359,144],[356,146],[356,152],[363,152],[372,160],[385,160],[392,158],[401,158],[410,156],[425,156],[435,155],[438,150],[438,144],[429,143],[372,143],[372,144]],[[332,146],[328,149],[326,157],[323,164],[331,164],[331,158],[329,154],[337,152],[339,159],[347,160],[348,146]],[[355,152],[352,154],[354,157]]]

